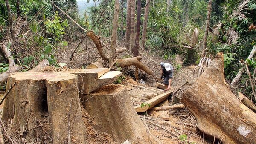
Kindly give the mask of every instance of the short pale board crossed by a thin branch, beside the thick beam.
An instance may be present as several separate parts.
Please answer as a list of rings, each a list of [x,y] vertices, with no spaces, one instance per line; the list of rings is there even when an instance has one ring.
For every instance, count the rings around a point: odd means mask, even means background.
[[[162,101],[161,103],[157,104],[158,107],[166,107],[169,105],[168,99]],[[153,107],[154,108],[154,107]],[[154,111],[154,109],[151,109],[151,113],[154,115],[155,118],[162,118],[163,120],[168,121],[170,119],[169,110],[161,110],[161,111]]]

